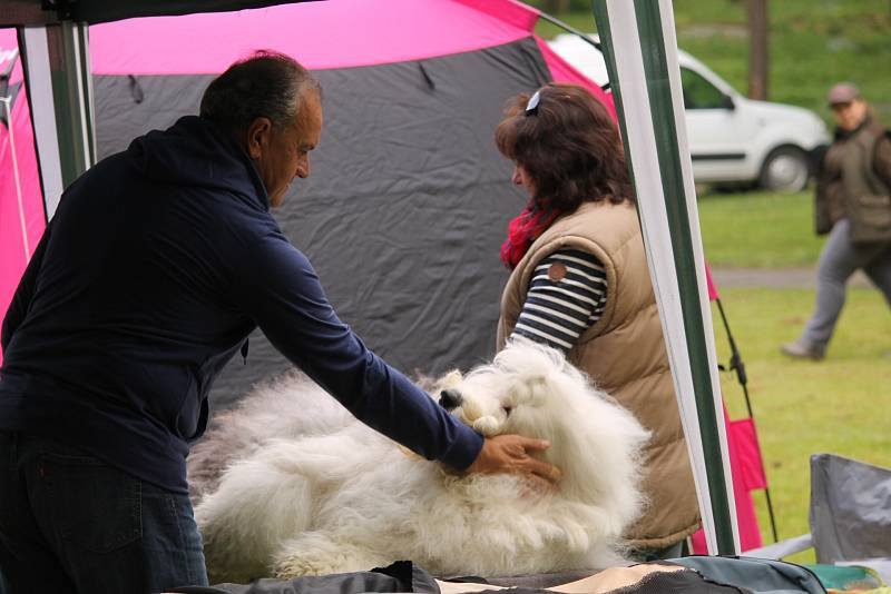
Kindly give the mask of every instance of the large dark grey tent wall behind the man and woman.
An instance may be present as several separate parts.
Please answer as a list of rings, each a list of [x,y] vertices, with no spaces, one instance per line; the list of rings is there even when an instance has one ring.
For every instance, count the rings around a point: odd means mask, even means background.
[[[325,125],[312,175],[276,211],[340,316],[412,374],[495,353],[499,247],[526,198],[493,131],[509,97],[549,80],[535,39],[421,61],[316,71]],[[194,113],[210,76],[95,77],[100,157]],[[290,364],[260,334],[212,406]]]

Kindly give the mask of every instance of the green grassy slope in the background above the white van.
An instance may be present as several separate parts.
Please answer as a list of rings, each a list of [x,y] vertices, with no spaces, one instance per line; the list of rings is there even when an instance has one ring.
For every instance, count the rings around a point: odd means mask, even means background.
[[[531,2],[540,6],[540,2]],[[879,119],[891,125],[891,6],[888,0],[781,0],[768,2],[768,99],[813,109],[829,123],[826,89],[858,83]],[[740,0],[675,0],[678,46],[699,58],[740,92],[747,89],[748,37]],[[590,11],[557,14],[594,31]],[[560,29],[540,23],[550,38]]]

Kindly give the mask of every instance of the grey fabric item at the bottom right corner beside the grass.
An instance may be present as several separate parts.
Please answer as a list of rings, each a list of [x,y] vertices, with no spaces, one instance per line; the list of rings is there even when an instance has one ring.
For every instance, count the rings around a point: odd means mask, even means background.
[[[891,469],[811,456],[810,523],[819,563],[891,560]]]

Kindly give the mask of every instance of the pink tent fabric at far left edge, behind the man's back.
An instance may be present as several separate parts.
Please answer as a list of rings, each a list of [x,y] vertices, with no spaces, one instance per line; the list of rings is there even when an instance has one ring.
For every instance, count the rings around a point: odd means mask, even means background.
[[[35,157],[35,137],[26,99],[25,92],[20,91],[12,108],[11,122],[22,192],[21,210],[13,172],[13,147],[6,126],[0,125],[0,318],[6,315],[25,267],[46,228],[43,197]],[[2,360],[0,353],[0,363]]]

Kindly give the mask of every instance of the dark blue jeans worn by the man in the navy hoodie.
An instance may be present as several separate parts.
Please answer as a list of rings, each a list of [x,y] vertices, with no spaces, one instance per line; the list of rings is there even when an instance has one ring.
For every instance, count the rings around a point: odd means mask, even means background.
[[[8,594],[207,585],[187,495],[139,481],[75,447],[3,430],[0,573]]]

